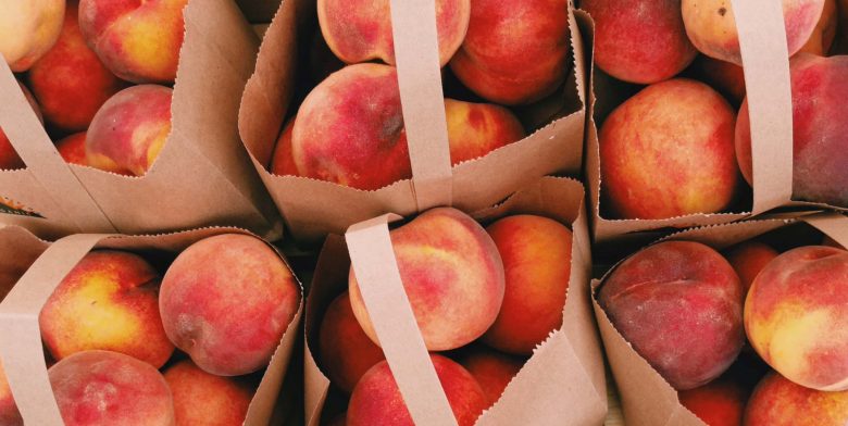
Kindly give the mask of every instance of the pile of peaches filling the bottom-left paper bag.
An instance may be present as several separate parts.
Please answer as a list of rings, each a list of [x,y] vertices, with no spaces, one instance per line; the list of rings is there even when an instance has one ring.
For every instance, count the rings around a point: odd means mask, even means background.
[[[261,374],[253,373],[267,366],[299,305],[286,262],[252,236],[199,240],[164,276],[139,254],[91,251],[39,316],[62,418],[241,424]],[[23,425],[2,365],[0,424]]]

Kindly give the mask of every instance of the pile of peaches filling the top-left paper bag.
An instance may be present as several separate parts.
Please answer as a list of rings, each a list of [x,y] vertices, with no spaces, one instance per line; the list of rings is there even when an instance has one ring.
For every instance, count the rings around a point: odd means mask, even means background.
[[[36,0],[4,9],[0,53],[22,73],[66,162],[129,176],[152,165],[171,133],[187,2]],[[22,167],[0,130],[0,168]]]

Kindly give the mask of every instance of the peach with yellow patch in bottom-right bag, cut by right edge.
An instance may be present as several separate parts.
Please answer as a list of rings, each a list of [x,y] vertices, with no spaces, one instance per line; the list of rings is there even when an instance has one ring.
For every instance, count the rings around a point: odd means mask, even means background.
[[[789,250],[753,280],[745,301],[748,340],[784,377],[819,390],[848,389],[848,251]]]

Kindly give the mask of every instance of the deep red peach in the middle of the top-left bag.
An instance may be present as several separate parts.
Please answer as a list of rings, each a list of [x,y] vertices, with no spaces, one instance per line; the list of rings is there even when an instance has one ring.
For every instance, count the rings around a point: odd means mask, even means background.
[[[77,2],[68,1],[59,40],[29,70],[45,117],[64,131],[88,128],[97,110],[125,86],[86,46],[77,15]]]

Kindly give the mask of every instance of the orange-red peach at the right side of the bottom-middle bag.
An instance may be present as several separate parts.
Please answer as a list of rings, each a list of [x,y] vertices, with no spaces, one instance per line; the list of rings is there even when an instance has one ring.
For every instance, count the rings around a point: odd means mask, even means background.
[[[571,275],[571,230],[535,215],[501,218],[486,230],[507,274],[503,304],[483,341],[504,352],[529,355],[562,326]]]

